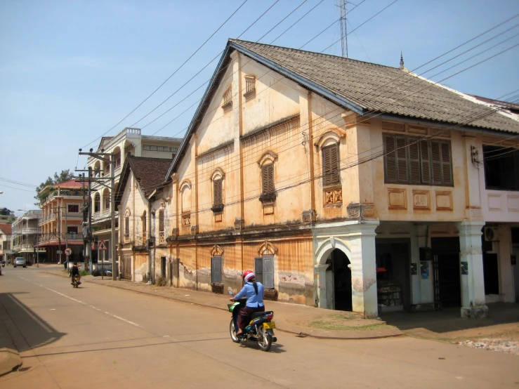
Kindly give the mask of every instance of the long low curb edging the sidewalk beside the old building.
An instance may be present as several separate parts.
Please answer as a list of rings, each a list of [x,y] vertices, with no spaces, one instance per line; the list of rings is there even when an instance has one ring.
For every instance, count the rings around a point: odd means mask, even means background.
[[[60,275],[60,274],[57,274],[55,272],[48,272],[48,271],[46,271],[46,273],[51,274],[51,275],[61,276],[61,277],[67,277],[65,275]],[[137,293],[137,294],[146,294],[148,296],[167,298],[168,300],[180,301],[182,303],[189,303],[189,304],[198,305],[198,306],[201,306],[201,307],[213,308],[213,309],[217,309],[217,310],[227,311],[225,308],[215,307],[214,305],[206,305],[206,304],[202,304],[202,303],[186,301],[186,300],[183,300],[181,298],[175,298],[175,297],[171,297],[171,296],[161,296],[160,294],[155,294],[155,293],[152,293],[150,291],[136,291],[134,289],[124,288],[124,287],[117,286],[117,285],[102,284],[102,283],[96,282],[96,281],[84,280],[84,282],[88,282],[88,283],[91,283],[91,284],[98,284],[98,285],[102,285],[102,286],[108,286],[108,287],[115,288],[115,289],[123,289],[125,291],[132,291],[132,292]],[[186,289],[186,290],[188,290],[188,289]],[[279,321],[276,321],[276,324],[278,324],[278,323],[279,323]],[[287,326],[287,327],[299,327],[299,326],[296,326],[294,324],[282,324],[282,326],[283,327],[285,327],[285,326]],[[285,332],[287,334],[294,334],[296,336],[301,336],[301,337],[309,337],[309,338],[316,338],[316,339],[334,339],[334,340],[341,340],[341,341],[366,341],[366,340],[369,340],[369,339],[395,338],[397,336],[404,335],[398,329],[397,329],[397,331],[399,331],[400,334],[388,334],[388,335],[379,335],[379,334],[377,334],[376,336],[337,336],[337,334],[334,334],[336,336],[334,336],[334,335],[328,336],[328,335],[324,335],[324,334],[319,335],[319,334],[311,334],[311,333],[308,333],[308,332],[303,332],[303,331],[298,330],[298,329],[286,329],[286,328],[284,329],[282,327],[279,327],[279,324],[276,327],[276,329],[279,330],[279,331]],[[312,331],[311,329],[308,329],[308,330]],[[325,331],[325,330],[315,329],[313,331]],[[339,331],[341,331],[341,330],[336,330],[335,332],[339,332]],[[370,331],[370,330],[366,330],[366,331]],[[355,332],[358,332],[358,331],[355,331]]]

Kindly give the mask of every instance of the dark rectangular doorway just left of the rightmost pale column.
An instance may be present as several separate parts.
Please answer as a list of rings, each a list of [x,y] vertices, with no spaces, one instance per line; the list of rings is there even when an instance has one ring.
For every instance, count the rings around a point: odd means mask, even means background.
[[[459,238],[431,238],[434,299],[445,308],[461,307]]]

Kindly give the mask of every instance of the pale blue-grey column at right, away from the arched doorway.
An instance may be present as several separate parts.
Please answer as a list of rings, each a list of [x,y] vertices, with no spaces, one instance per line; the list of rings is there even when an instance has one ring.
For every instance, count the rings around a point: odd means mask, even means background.
[[[460,267],[466,263],[466,272],[461,274],[461,317],[488,317],[485,305],[485,282],[481,247],[482,221],[456,223],[459,230]],[[460,269],[461,272],[461,269]]]

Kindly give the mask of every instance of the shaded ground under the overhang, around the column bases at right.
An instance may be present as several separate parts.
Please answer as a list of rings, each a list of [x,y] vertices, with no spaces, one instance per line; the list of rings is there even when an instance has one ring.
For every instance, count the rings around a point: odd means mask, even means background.
[[[519,323],[518,303],[492,303],[488,304],[488,310],[490,317],[485,319],[464,319],[459,316],[459,308],[416,313],[389,312],[380,317],[402,331],[423,328],[436,333]]]

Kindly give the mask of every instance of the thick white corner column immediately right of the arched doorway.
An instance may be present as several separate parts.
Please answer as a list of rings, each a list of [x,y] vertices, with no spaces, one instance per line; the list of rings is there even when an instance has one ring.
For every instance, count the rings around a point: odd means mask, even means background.
[[[355,225],[356,231],[351,243],[351,289],[353,312],[361,312],[364,317],[379,315],[376,296],[376,255],[375,228],[378,220],[372,223]]]

